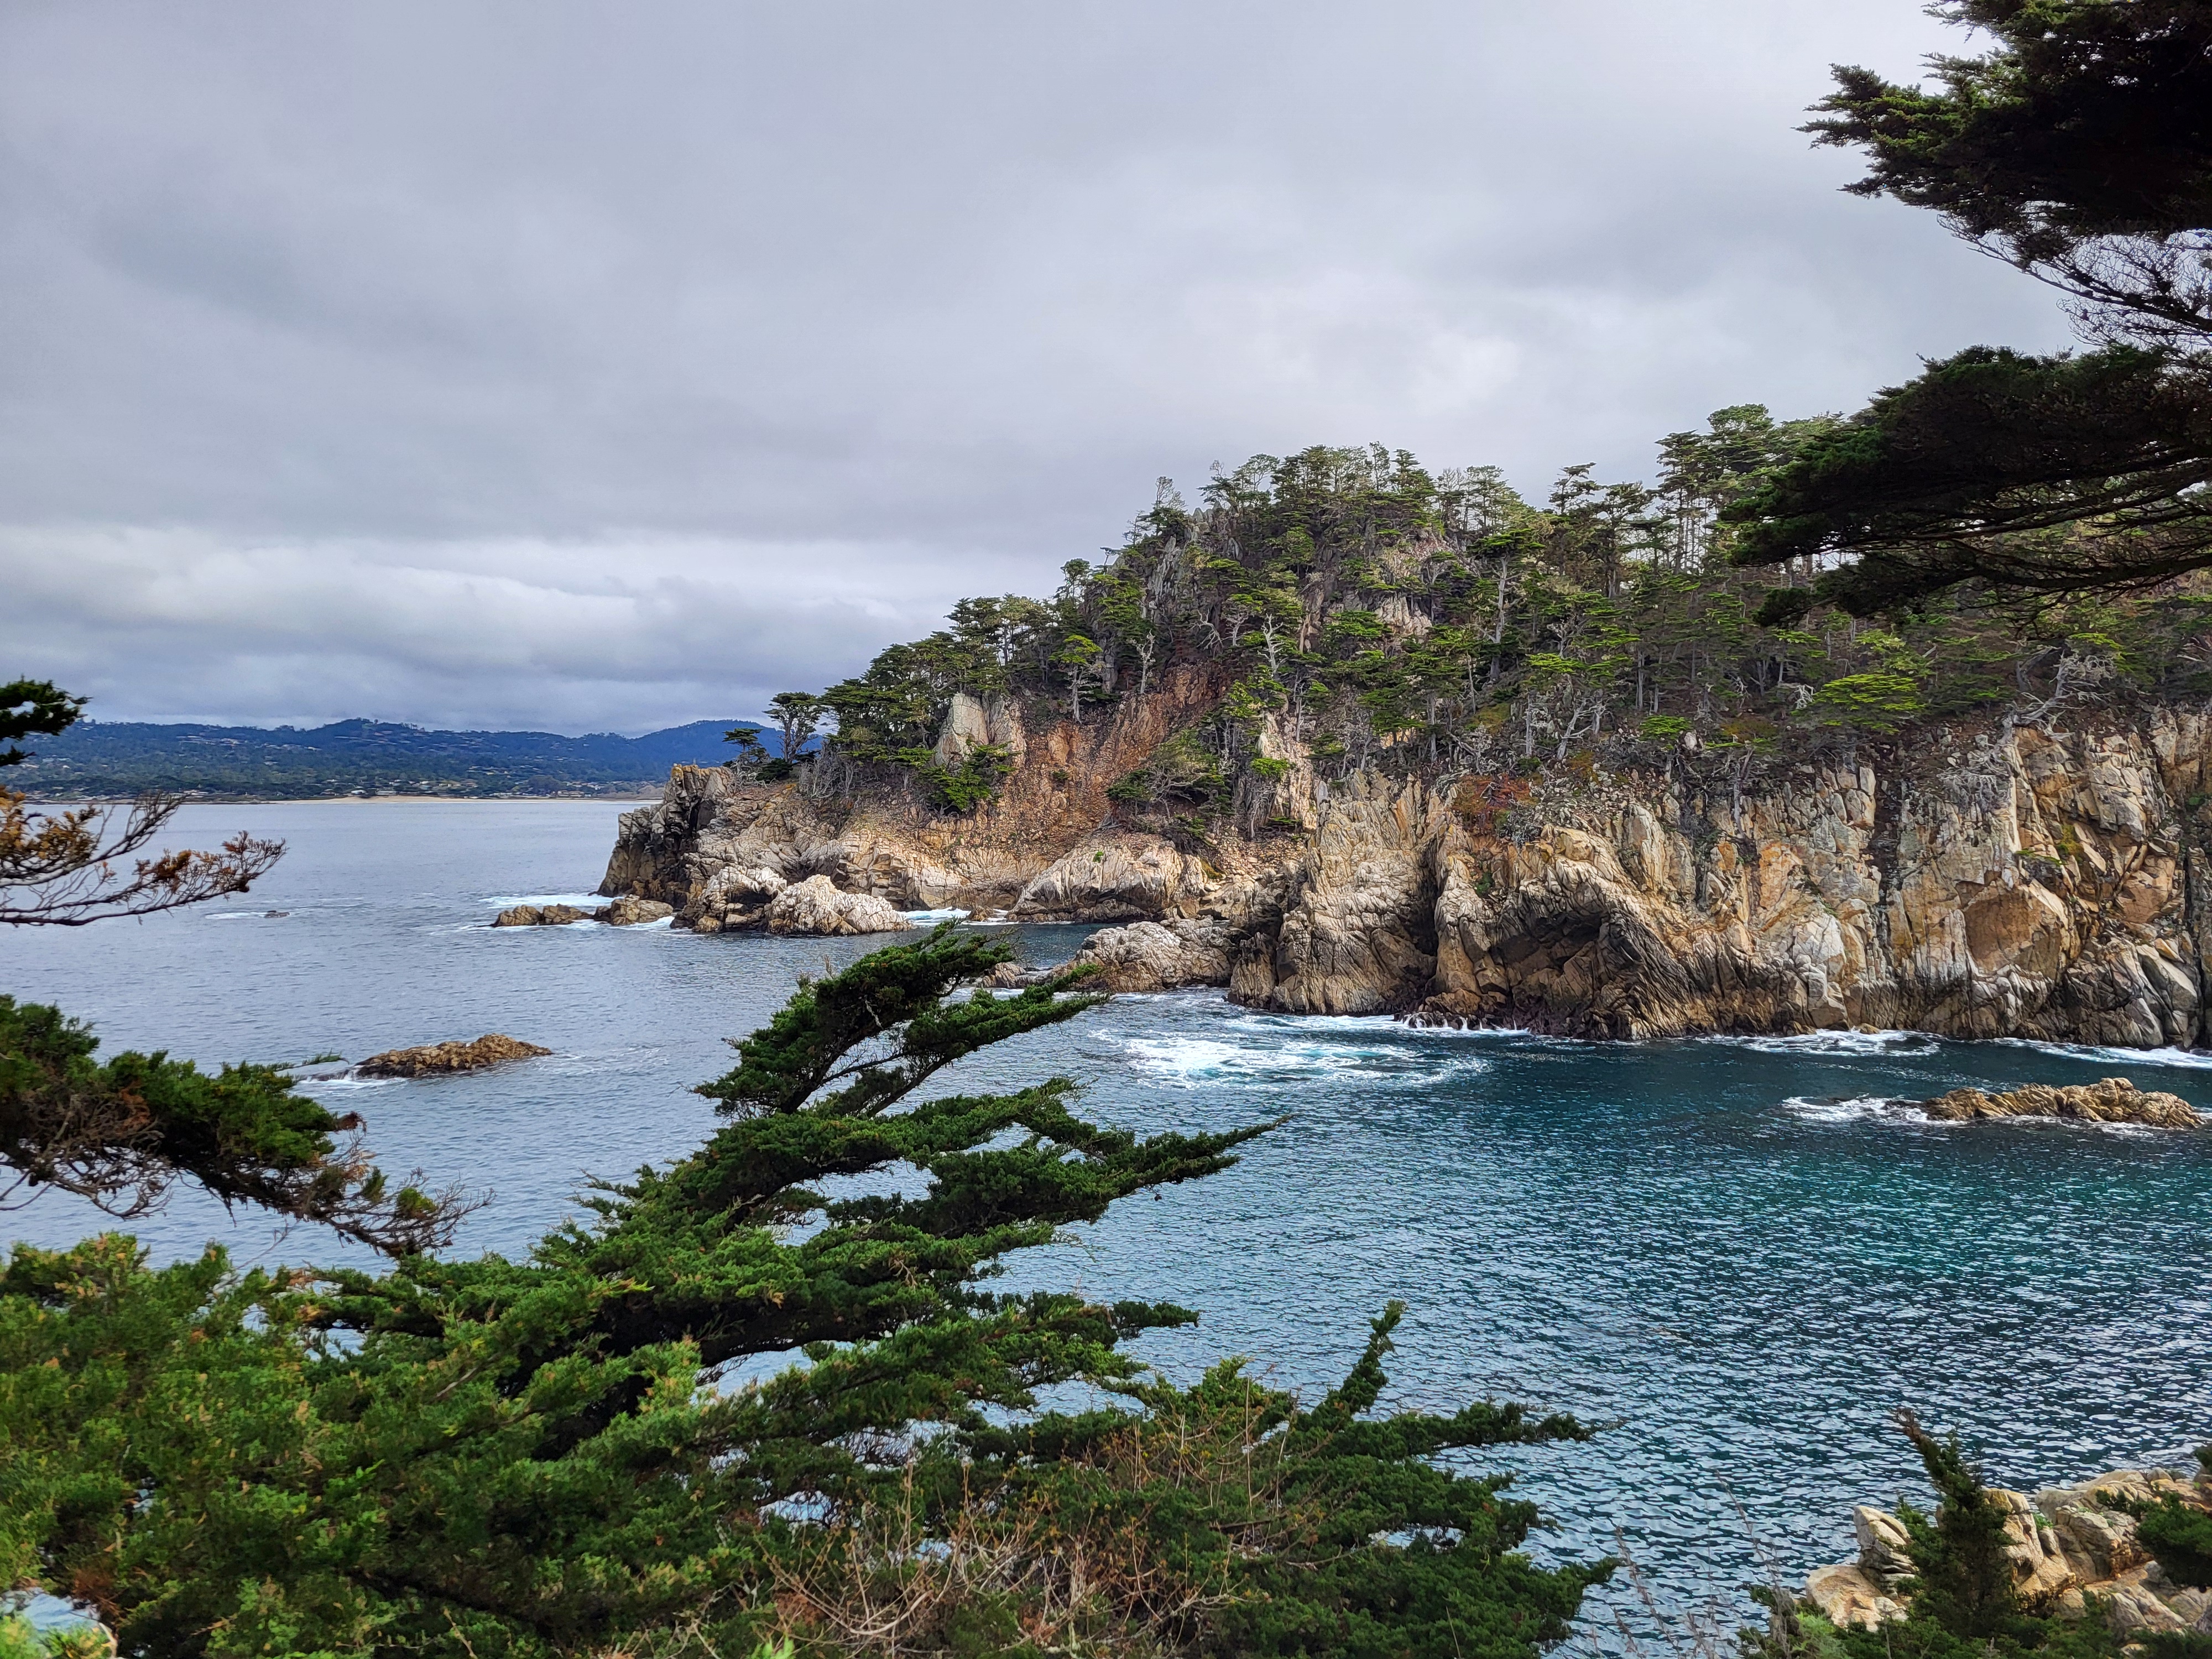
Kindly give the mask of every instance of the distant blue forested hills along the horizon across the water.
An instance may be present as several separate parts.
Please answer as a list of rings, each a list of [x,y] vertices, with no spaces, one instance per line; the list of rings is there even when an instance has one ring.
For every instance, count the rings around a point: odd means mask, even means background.
[[[44,799],[166,790],[210,799],[341,794],[630,794],[657,790],[677,763],[721,765],[732,723],[666,732],[431,732],[387,721],[292,726],[155,726],[80,721],[38,741],[11,785]]]

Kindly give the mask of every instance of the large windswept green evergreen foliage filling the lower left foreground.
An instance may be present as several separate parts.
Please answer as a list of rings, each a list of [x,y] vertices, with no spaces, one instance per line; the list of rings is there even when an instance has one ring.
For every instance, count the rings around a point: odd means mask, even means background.
[[[723,1126],[529,1256],[387,1274],[0,1276],[0,1575],[126,1655],[1345,1652],[1531,1659],[1606,1566],[1438,1451],[1582,1440],[1376,1418],[1398,1310],[1312,1407],[1121,1345],[1172,1305],[995,1294],[1004,1256],[1272,1128],[1137,1137],[1075,1086],[925,1088],[1079,1015],[949,929],[803,984],[701,1093]],[[745,1367],[739,1383],[732,1367]],[[781,1369],[779,1369],[781,1367]],[[1084,1409],[1040,1391],[1088,1385]]]

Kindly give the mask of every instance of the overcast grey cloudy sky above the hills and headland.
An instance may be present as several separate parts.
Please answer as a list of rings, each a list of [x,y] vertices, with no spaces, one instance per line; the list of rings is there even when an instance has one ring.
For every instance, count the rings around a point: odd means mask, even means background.
[[[0,679],[641,732],[1312,442],[1648,478],[2055,305],[1794,128],[1913,0],[0,0]]]

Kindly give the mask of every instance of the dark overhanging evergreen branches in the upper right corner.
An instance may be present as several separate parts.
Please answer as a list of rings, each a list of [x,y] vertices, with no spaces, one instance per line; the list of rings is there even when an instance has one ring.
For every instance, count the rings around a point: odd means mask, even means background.
[[[1732,504],[1745,564],[1827,566],[1854,615],[1980,580],[2143,588],[2212,564],[2212,11],[1958,0],[1938,88],[1838,69],[1812,131],[1849,186],[1933,208],[2070,296],[2081,356],[1973,347],[1882,392]]]

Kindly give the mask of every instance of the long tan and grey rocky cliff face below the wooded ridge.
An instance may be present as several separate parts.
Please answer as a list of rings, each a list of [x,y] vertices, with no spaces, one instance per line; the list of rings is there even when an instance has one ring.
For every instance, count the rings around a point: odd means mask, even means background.
[[[602,891],[699,929],[757,927],[810,876],[900,909],[1219,922],[1208,949],[1170,956],[1212,982],[1225,960],[1230,995],[1294,1013],[1590,1037],[2212,1040],[2203,710],[1922,728],[1723,785],[1686,765],[1329,787],[1301,754],[1256,838],[1117,825],[1106,785],[1208,690],[1192,677],[1110,723],[1029,734],[969,816],[677,768],[659,805],[624,816]]]

